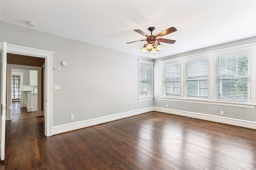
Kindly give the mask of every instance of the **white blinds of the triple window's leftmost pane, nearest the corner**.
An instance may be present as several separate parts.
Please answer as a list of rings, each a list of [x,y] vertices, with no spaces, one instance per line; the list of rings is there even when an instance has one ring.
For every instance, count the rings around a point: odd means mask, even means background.
[[[180,98],[180,62],[163,64],[162,96]]]

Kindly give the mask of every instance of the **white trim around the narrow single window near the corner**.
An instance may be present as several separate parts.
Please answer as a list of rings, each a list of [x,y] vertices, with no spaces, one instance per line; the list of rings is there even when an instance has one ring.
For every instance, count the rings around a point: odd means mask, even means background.
[[[140,64],[146,64],[152,67],[152,95],[151,96],[146,96],[146,97],[140,97]],[[138,60],[138,100],[139,101],[144,101],[144,100],[153,100],[154,98],[154,63],[150,61],[144,61],[144,60]]]

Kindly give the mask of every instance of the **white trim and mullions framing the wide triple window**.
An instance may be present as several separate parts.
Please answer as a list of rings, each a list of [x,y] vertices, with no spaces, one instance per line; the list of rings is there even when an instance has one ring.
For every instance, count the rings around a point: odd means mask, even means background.
[[[232,51],[238,51],[243,49],[251,50],[250,57],[250,104],[240,104],[240,103],[229,103],[229,102],[216,102],[214,101],[214,55],[219,55],[221,53],[229,53]],[[184,98],[184,61],[190,59],[199,59],[208,56],[209,58],[209,100],[191,100]],[[222,106],[236,106],[236,107],[247,107],[247,108],[255,108],[256,106],[256,43],[250,43],[246,45],[239,45],[235,47],[229,47],[225,49],[219,49],[214,51],[208,51],[204,53],[198,53],[194,55],[188,55],[184,57],[178,57],[174,59],[168,59],[164,61],[160,61],[160,69],[161,69],[161,100],[172,100],[172,101],[180,101],[180,102],[193,102],[193,103],[204,103],[204,104],[214,104],[214,105],[222,105]],[[180,61],[180,99],[177,98],[167,98],[162,95],[162,66],[163,64],[175,63]]]

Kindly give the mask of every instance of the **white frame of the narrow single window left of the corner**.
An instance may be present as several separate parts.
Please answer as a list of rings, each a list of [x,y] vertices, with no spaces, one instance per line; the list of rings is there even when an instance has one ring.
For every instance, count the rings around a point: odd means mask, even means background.
[[[140,66],[141,65],[145,65],[145,66],[149,66],[151,68],[151,81],[150,82],[150,86],[151,86],[151,94],[148,94],[147,96],[142,96],[141,95],[141,70],[140,70]],[[154,63],[150,62],[150,61],[144,61],[144,60],[138,60],[138,100],[142,101],[142,100],[153,100],[154,98]],[[147,90],[148,92],[148,90]],[[149,92],[148,92],[149,93]]]

